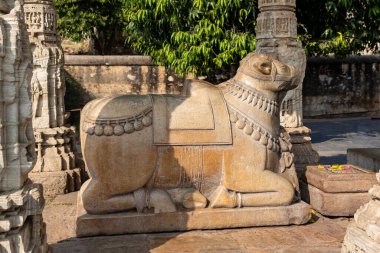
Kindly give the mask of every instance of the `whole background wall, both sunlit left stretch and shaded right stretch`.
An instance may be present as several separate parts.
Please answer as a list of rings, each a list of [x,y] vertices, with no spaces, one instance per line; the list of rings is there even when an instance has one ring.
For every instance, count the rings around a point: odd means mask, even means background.
[[[67,55],[65,61],[68,85],[76,85],[75,91],[80,92],[75,98],[77,105],[66,104],[68,109],[79,109],[94,98],[108,95],[178,93],[183,82],[166,74],[164,67],[154,66],[145,56]],[[379,63],[379,56],[309,59],[303,89],[304,117],[379,112]],[[66,96],[67,99],[71,98]]]

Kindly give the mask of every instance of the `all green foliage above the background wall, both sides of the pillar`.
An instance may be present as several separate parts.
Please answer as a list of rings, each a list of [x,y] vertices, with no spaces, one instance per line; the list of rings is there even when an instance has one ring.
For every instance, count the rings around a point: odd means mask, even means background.
[[[255,48],[257,0],[56,0],[61,34],[92,38],[99,53],[122,44],[179,74],[226,72]],[[379,51],[380,0],[297,1],[309,55]]]

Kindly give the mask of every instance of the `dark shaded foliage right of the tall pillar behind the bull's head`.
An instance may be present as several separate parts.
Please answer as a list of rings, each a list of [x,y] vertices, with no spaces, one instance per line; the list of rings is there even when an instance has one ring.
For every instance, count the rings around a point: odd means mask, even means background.
[[[380,0],[299,1],[299,33],[310,55],[379,50]]]

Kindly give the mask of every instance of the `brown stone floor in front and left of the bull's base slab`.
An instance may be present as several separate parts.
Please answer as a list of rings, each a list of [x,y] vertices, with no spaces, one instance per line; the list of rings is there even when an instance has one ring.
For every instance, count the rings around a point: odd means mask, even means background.
[[[53,253],[340,252],[348,219],[316,217],[304,226],[75,238],[76,193],[47,204],[44,220]]]

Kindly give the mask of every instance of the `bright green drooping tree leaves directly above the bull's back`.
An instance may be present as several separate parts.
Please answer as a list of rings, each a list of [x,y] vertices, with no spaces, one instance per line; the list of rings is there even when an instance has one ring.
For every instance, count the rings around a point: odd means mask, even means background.
[[[180,74],[207,75],[255,48],[256,0],[125,0],[125,37]]]

